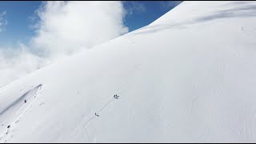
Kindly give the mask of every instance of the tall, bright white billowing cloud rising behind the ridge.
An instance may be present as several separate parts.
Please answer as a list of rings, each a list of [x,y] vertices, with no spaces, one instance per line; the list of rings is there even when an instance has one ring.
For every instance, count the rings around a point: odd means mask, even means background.
[[[37,11],[34,47],[73,54],[128,32],[122,2],[44,2]]]

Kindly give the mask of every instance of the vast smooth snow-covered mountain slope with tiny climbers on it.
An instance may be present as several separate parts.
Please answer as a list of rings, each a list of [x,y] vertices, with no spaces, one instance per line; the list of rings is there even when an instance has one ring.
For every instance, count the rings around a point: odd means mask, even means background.
[[[3,86],[0,142],[255,142],[255,16],[182,2]]]

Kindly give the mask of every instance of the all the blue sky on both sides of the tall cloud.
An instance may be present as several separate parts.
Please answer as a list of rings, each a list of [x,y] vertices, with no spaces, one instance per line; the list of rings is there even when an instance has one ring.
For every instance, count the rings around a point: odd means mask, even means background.
[[[154,22],[155,19],[166,14],[167,11],[177,6],[180,2],[172,1],[126,1],[123,6],[127,12],[124,24],[129,31]],[[33,20],[35,10],[41,5],[40,1],[2,1],[0,14],[6,12],[7,24],[5,30],[0,32],[0,47],[12,46],[18,42],[27,43],[34,35]]]

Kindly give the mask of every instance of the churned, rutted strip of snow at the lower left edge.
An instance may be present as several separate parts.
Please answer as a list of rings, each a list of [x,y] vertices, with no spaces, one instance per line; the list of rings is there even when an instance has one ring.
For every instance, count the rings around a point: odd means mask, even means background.
[[[34,89],[27,91],[25,94],[23,94],[18,100],[13,102],[10,106],[8,106],[5,110],[3,110],[0,113],[1,114],[11,112],[12,109],[18,109],[22,110],[22,113],[18,115],[18,117],[14,118],[12,122],[7,122],[8,124],[4,124],[2,126],[10,126],[9,128],[6,127],[7,130],[3,131],[2,134],[0,134],[0,142],[8,142],[10,138],[14,137],[14,133],[17,130],[18,122],[22,120],[22,118],[25,116],[25,114],[31,109],[33,106],[34,100],[37,98],[38,94],[42,93],[42,84],[34,87]],[[24,103],[24,100],[26,99],[26,103]],[[20,104],[22,106],[20,106]],[[25,107],[26,106],[26,107]]]

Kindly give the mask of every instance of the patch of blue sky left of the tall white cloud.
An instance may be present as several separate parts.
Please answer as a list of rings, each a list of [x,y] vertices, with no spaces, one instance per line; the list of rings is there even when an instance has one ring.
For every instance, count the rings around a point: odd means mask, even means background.
[[[34,34],[34,30],[30,28],[30,17],[40,4],[39,1],[0,2],[0,12],[6,11],[7,21],[6,30],[0,33],[0,46],[12,46],[14,42],[29,41]]]

